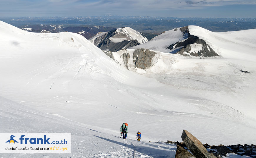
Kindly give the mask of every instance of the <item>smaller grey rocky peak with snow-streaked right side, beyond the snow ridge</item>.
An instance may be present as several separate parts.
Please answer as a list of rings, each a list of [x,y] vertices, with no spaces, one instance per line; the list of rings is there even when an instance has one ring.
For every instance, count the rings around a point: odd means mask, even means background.
[[[142,33],[129,27],[102,32],[89,40],[100,49],[107,51],[119,51],[148,41]]]

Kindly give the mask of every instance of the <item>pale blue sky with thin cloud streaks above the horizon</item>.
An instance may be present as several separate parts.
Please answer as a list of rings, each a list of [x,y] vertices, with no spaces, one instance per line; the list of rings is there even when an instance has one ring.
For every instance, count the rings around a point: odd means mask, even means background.
[[[0,17],[256,18],[256,0],[0,0]]]

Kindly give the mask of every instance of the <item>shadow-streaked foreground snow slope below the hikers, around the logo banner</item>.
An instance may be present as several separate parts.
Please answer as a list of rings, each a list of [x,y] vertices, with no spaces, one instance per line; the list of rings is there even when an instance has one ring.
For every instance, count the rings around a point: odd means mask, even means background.
[[[0,104],[1,133],[71,133],[72,140],[71,153],[0,153],[1,157],[175,157],[176,145],[123,140],[112,131],[41,113],[3,97]]]

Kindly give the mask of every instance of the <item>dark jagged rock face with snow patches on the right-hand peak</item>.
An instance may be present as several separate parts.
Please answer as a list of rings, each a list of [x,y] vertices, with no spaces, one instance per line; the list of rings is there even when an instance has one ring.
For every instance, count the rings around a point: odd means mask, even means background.
[[[185,41],[171,44],[167,49],[175,50],[176,54],[184,56],[198,56],[199,58],[219,56],[204,40],[197,36],[190,35],[188,26],[179,29],[184,35],[188,36]]]

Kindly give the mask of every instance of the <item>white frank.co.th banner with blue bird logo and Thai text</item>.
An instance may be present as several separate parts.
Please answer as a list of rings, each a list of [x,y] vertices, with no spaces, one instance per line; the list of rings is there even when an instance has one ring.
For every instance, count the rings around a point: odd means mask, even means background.
[[[0,133],[0,153],[70,152],[70,133]]]

